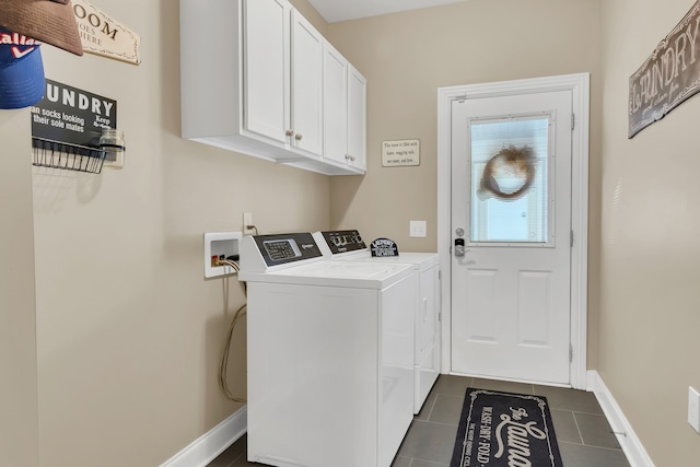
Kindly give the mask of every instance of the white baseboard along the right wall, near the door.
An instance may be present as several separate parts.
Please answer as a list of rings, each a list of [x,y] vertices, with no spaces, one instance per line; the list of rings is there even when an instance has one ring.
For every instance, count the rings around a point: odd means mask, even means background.
[[[637,437],[634,430],[627,421],[625,413],[617,405],[615,397],[600,378],[597,371],[588,371],[588,390],[595,394],[598,404],[610,423],[610,428],[616,433],[617,441],[620,443],[627,460],[631,467],[654,467],[654,463],[646,454],[641,441]]]

